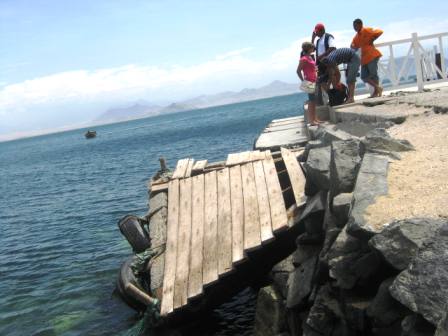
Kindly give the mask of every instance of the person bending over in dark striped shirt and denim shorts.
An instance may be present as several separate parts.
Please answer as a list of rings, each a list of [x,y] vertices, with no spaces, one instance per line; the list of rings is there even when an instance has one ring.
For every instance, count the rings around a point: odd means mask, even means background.
[[[333,50],[327,57],[322,58],[321,63],[327,68],[328,84],[332,84],[333,88],[338,87],[341,80],[341,73],[339,72],[338,65],[342,63],[347,64],[345,78],[348,86],[348,97],[346,104],[353,103],[355,101],[356,75],[358,74],[359,65],[361,63],[356,51],[350,48]]]

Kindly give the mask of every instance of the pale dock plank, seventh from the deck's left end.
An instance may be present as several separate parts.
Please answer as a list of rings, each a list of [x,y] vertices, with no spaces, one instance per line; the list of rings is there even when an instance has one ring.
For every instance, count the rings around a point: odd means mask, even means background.
[[[248,251],[261,245],[257,188],[252,163],[241,166],[241,180],[244,200],[244,250]]]

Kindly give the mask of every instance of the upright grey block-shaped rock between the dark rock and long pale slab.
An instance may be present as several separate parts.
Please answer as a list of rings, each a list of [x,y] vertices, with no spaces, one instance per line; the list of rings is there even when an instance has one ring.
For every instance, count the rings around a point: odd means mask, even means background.
[[[352,192],[356,182],[361,156],[359,140],[333,141],[330,161],[330,192],[332,197]]]

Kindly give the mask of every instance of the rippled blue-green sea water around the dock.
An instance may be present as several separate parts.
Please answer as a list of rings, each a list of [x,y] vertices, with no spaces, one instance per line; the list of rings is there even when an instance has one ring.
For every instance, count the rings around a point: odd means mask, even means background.
[[[117,222],[147,212],[158,158],[173,168],[185,157],[219,161],[250,150],[272,119],[303,114],[304,100],[296,94],[104,125],[90,140],[75,130],[0,143],[0,335],[132,331],[135,313],[113,295],[132,253]],[[247,333],[254,300],[246,291],[195,334]],[[232,314],[241,306],[238,320]]]

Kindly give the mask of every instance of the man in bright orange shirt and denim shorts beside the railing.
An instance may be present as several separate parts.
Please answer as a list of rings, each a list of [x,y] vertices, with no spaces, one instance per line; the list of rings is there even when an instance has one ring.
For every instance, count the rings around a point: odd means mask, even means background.
[[[379,85],[378,61],[382,56],[375,48],[373,41],[383,34],[381,29],[363,27],[361,19],[353,21],[356,35],[352,41],[352,48],[361,48],[361,79],[375,89],[371,97],[381,97],[383,88]]]

